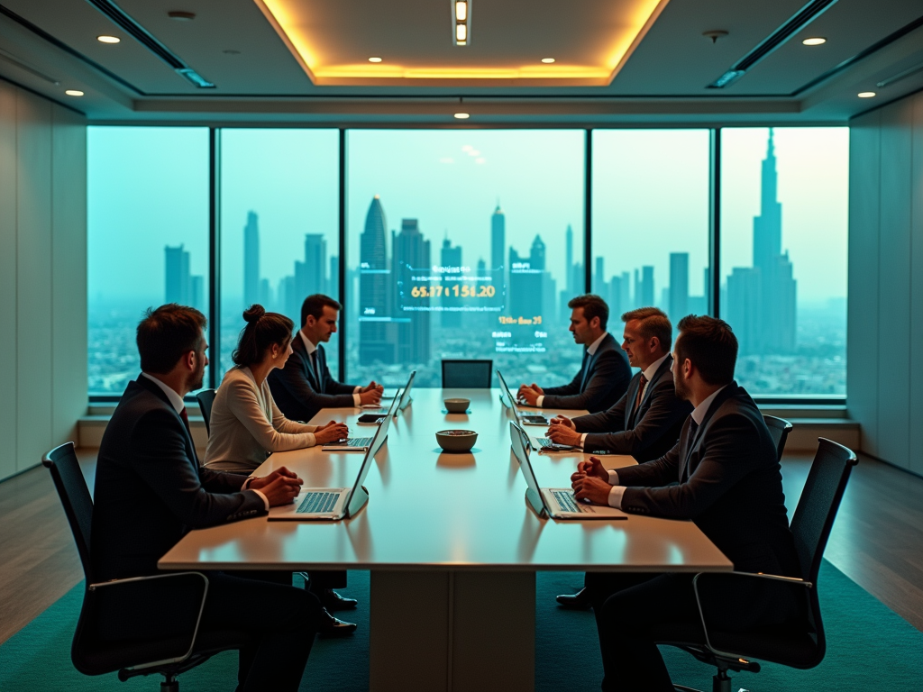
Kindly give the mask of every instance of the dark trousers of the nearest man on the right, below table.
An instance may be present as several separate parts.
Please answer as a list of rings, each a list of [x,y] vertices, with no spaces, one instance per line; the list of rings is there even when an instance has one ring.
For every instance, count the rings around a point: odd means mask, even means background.
[[[606,692],[673,692],[654,643],[658,626],[689,624],[701,632],[691,574],[586,575],[603,654]],[[703,638],[702,638],[703,640]]]

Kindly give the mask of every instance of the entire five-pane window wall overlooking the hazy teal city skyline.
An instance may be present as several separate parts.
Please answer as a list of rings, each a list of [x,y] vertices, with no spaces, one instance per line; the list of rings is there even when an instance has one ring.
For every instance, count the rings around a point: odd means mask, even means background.
[[[513,384],[569,379],[580,349],[566,304],[585,291],[589,212],[591,288],[614,333],[631,307],[677,322],[717,304],[751,393],[845,397],[847,128],[214,134],[210,158],[208,128],[90,127],[94,395],[118,395],[137,374],[145,308],[207,312],[213,189],[215,383],[247,304],[297,323],[311,292],[344,304],[346,358],[334,337],[328,362],[351,382],[395,385],[416,368],[418,386],[438,386],[447,358],[490,358]]]

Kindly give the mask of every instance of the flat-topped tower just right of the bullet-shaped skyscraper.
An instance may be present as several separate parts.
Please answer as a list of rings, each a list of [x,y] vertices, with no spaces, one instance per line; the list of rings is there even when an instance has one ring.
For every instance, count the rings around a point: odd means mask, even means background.
[[[411,292],[412,269],[418,268],[428,272],[430,267],[429,241],[420,233],[416,219],[403,219],[401,233],[391,233],[393,246],[391,273],[397,277],[399,291]],[[395,296],[398,307],[402,310],[397,321],[398,348],[397,362],[402,364],[424,364],[429,361],[429,316],[426,308],[429,298]],[[413,304],[414,309],[408,307]]]

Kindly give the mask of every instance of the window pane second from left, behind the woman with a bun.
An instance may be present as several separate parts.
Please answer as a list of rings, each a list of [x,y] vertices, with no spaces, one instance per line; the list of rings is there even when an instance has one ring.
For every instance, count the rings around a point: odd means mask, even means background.
[[[221,375],[262,304],[301,326],[312,293],[339,300],[340,133],[333,129],[224,129],[221,133]],[[338,334],[325,345],[337,375]]]

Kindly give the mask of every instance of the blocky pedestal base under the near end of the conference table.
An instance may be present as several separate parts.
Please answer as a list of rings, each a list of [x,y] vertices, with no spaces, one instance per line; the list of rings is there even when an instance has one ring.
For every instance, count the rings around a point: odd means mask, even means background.
[[[372,571],[372,690],[532,690],[534,572]]]

